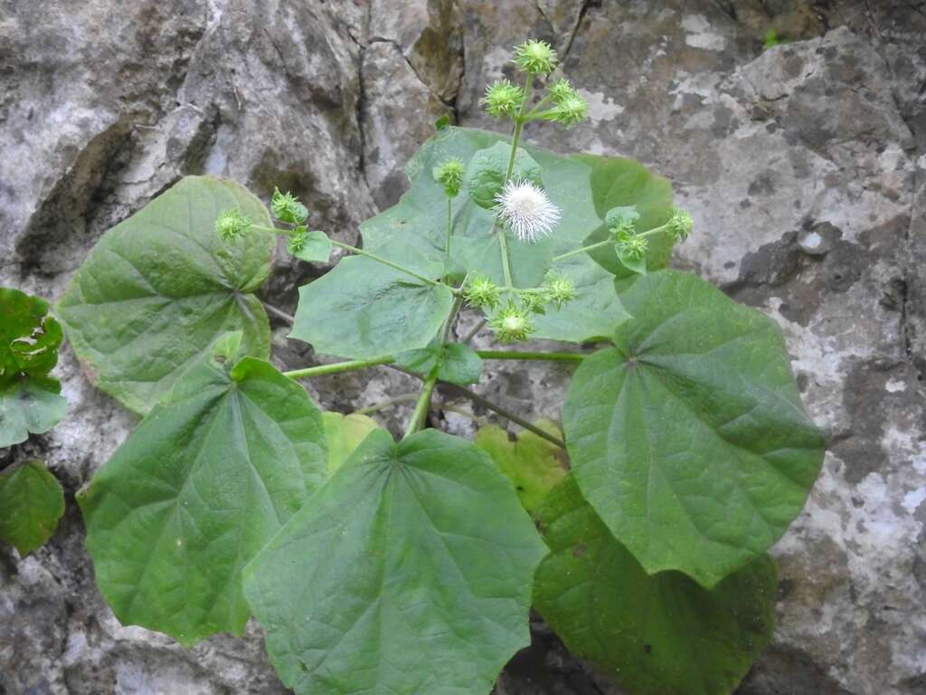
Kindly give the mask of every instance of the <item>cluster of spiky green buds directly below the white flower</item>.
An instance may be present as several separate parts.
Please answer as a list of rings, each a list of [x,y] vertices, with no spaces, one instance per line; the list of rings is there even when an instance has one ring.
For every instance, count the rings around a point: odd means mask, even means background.
[[[509,297],[502,303],[502,295]],[[463,297],[470,306],[489,313],[489,327],[499,342],[527,340],[536,330],[533,314],[543,314],[553,304],[560,309],[576,297],[575,284],[565,275],[550,273],[540,287],[505,289],[482,275],[471,278],[463,287]]]

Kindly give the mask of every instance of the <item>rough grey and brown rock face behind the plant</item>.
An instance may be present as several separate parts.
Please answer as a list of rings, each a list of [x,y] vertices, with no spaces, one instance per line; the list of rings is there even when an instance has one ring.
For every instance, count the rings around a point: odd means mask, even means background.
[[[762,50],[770,29],[794,43]],[[774,550],[779,626],[742,692],[926,692],[922,2],[0,0],[0,284],[56,298],[108,226],[185,173],[261,196],[290,188],[313,224],[353,241],[401,193],[396,171],[437,115],[494,127],[483,86],[511,76],[507,51],[529,35],[557,46],[592,119],[527,137],[668,175],[696,221],[676,265],[782,324],[831,433],[807,510]],[[323,270],[281,254],[267,297],[293,310]],[[277,329],[282,364],[316,359]],[[68,419],[0,452],[0,465],[44,457],[69,502],[44,549],[0,549],[0,693],[283,692],[253,627],[183,651],[106,609],[73,493],[133,423],[67,349],[58,373]],[[346,411],[413,386],[372,376],[311,390]],[[481,390],[556,417],[568,376],[498,370]],[[471,430],[450,411],[435,422]],[[499,693],[616,692],[544,625],[534,642]]]

